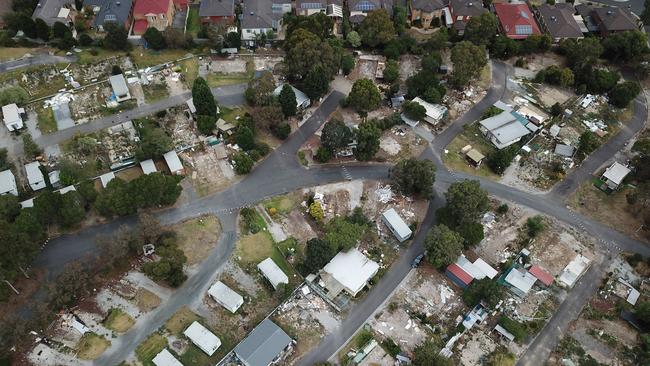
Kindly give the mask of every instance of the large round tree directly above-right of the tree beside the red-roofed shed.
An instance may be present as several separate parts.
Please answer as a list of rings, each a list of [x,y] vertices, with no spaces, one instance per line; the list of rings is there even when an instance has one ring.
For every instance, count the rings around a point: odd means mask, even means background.
[[[489,206],[487,192],[477,180],[464,180],[449,186],[445,193],[447,209],[457,226],[478,222]]]

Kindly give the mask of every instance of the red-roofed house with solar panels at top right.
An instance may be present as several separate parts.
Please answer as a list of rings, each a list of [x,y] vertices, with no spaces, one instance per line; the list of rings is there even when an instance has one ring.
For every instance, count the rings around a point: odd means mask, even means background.
[[[499,18],[501,30],[508,38],[525,39],[533,34],[542,34],[533,13],[525,3],[494,4],[494,11]]]

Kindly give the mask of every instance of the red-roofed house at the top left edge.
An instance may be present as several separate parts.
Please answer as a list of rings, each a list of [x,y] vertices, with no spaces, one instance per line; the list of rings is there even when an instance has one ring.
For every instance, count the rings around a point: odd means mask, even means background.
[[[133,34],[142,35],[147,28],[164,31],[174,21],[174,0],[136,0],[133,7]]]

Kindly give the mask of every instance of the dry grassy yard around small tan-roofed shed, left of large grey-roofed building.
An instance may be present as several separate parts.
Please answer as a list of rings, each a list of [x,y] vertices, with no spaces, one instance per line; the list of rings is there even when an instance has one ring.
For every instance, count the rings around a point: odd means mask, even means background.
[[[483,137],[483,134],[478,130],[476,124],[465,126],[463,133],[454,138],[449,145],[447,145],[447,154],[443,154],[442,161],[445,165],[455,171],[478,175],[492,180],[499,180],[499,175],[495,174],[488,168],[485,159],[481,166],[477,169],[471,166],[466,160],[465,156],[460,150],[467,146],[472,145],[473,148],[480,151],[481,154],[488,156],[495,148]]]

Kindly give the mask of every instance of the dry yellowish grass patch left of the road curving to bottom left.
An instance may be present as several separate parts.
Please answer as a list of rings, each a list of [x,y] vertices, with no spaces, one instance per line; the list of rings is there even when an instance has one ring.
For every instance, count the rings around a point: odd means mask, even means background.
[[[187,220],[174,225],[178,248],[185,253],[187,264],[202,262],[210,255],[221,235],[219,220],[210,215]]]

